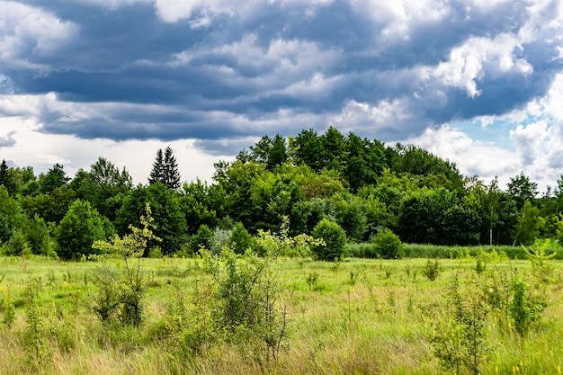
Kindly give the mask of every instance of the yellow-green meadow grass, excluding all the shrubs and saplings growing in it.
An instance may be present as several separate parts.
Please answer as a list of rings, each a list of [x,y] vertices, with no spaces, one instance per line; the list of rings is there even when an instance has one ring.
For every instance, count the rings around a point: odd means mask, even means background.
[[[422,251],[413,247],[409,254]],[[90,309],[99,263],[2,257],[0,301],[4,302],[9,290],[17,319],[11,327],[0,323],[0,373],[440,373],[427,337],[441,317],[432,313],[444,311],[455,275],[460,276],[465,290],[501,275],[510,278],[514,270],[531,290],[544,293],[549,305],[540,323],[523,337],[508,325],[507,318],[490,314],[485,322],[490,350],[482,373],[513,374],[516,366],[522,374],[560,373],[563,263],[550,261],[550,271],[537,272],[527,261],[509,259],[487,263],[486,271],[478,274],[475,260],[468,256],[442,258],[436,281],[424,277],[423,258],[277,261],[274,274],[283,287],[281,300],[290,306],[289,338],[277,362],[264,362],[254,343],[218,342],[201,353],[179,355],[163,335],[167,304],[177,299],[179,291],[191,296],[196,280],[210,281],[201,260],[143,259],[144,272],[153,275],[146,319],[139,327],[117,327],[103,326]],[[119,267],[119,262],[113,266]],[[314,282],[313,274],[317,274]],[[39,364],[30,362],[25,344],[29,302],[24,290],[31,279],[40,285],[45,338],[45,355]],[[4,303],[0,308],[0,319],[3,317]]]

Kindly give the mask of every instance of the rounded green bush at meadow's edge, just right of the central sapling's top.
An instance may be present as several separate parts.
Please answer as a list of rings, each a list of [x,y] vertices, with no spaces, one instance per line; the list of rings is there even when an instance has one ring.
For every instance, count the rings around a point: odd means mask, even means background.
[[[318,260],[333,262],[344,256],[346,232],[334,221],[322,219],[313,229],[313,237],[325,242],[324,245],[311,245],[311,251]]]

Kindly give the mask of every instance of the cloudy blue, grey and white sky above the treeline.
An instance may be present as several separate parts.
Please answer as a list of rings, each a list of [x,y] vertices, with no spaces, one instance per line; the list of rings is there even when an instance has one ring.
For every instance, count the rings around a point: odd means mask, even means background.
[[[264,135],[414,144],[501,187],[563,174],[560,0],[0,0],[0,158],[211,183]]]

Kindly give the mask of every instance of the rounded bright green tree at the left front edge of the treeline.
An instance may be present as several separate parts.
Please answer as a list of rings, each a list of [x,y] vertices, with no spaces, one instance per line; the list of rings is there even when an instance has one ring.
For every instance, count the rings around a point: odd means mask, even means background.
[[[105,219],[104,222],[90,202],[76,200],[58,225],[57,254],[65,260],[78,260],[83,254],[97,254],[92,248],[94,241],[109,237],[111,232],[109,221]]]

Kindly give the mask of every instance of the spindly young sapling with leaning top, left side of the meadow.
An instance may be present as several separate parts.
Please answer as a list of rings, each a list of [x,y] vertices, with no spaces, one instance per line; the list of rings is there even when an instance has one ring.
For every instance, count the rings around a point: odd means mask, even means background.
[[[102,263],[101,275],[97,278],[100,291],[95,300],[94,312],[103,322],[112,321],[116,309],[121,306],[121,323],[131,326],[139,326],[141,323],[143,299],[147,293],[150,275],[142,271],[140,259],[147,253],[150,241],[161,240],[153,234],[155,224],[151,213],[150,204],[147,202],[145,214],[139,218],[142,228],[130,225],[130,234],[123,237],[114,235],[109,242],[96,241],[92,246],[102,254],[121,258],[124,263],[121,276],[112,272],[107,263]],[[119,285],[119,295],[115,285]]]

